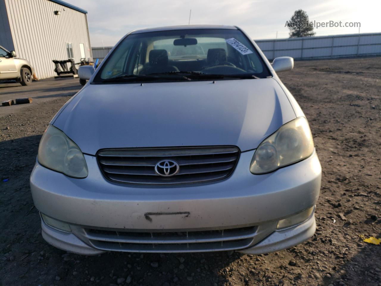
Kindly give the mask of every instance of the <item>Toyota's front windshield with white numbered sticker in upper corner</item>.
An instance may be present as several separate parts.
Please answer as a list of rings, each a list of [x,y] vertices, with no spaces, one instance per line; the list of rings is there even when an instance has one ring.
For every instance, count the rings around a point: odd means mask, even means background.
[[[128,35],[94,83],[254,79],[271,76],[250,40],[236,29],[185,29]]]

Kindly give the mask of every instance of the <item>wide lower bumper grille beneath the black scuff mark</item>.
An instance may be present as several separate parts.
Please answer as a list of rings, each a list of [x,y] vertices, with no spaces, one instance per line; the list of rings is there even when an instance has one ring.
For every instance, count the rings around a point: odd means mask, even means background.
[[[242,249],[253,242],[257,227],[181,232],[130,232],[85,228],[94,247],[106,251],[194,252]]]

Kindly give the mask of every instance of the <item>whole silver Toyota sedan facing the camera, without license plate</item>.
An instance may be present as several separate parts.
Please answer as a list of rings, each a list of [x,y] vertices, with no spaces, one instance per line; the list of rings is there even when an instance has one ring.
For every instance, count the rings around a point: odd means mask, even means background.
[[[54,116],[30,176],[43,238],[105,251],[246,254],[310,238],[321,167],[303,111],[235,26],[133,31]]]

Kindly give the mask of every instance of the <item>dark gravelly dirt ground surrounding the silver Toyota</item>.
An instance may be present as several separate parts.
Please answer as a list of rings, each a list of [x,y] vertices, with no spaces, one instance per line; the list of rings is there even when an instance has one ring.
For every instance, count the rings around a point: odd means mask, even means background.
[[[28,179],[46,125],[80,85],[74,80],[50,87],[46,82],[0,85],[1,99],[30,96],[24,93],[30,89],[45,96],[24,106],[0,107],[0,285],[381,286],[381,245],[363,243],[358,236],[381,237],[381,58],[295,66],[280,76],[309,119],[323,167],[317,231],[299,246],[259,256],[85,257],[49,246],[40,234]]]

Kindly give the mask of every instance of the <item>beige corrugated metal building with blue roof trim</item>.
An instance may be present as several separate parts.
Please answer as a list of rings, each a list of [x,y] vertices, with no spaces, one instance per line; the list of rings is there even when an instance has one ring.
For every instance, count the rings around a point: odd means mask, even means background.
[[[87,11],[61,0],[0,0],[0,45],[30,61],[39,79],[53,60],[92,58]]]

